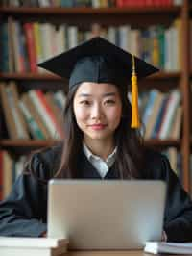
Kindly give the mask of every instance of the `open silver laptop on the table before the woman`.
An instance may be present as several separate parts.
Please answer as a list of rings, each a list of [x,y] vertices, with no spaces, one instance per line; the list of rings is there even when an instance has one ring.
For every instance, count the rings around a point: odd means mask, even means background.
[[[51,180],[48,237],[79,250],[143,248],[161,238],[165,193],[162,181]]]

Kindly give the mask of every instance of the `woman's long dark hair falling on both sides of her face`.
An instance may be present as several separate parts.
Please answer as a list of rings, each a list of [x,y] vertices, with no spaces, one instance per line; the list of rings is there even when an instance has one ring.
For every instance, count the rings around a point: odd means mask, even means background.
[[[82,150],[83,132],[77,125],[73,112],[73,99],[80,85],[69,90],[63,112],[64,143],[60,167],[55,177],[75,178],[78,156]],[[115,131],[117,146],[115,167],[122,179],[138,178],[143,163],[143,140],[138,131],[131,128],[132,106],[127,97],[127,86],[117,87],[122,100],[122,118]]]

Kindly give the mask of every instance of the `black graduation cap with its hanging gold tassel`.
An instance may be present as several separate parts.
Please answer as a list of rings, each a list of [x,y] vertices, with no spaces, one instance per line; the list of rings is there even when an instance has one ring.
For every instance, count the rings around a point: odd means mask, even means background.
[[[138,79],[158,69],[104,38],[92,38],[38,66],[69,79],[69,90],[82,82],[129,85],[132,81],[132,128],[139,127]]]

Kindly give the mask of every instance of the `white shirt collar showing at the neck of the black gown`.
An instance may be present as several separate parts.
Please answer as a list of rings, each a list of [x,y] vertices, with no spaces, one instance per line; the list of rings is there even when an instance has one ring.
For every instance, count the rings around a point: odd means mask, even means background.
[[[114,148],[113,152],[108,156],[106,161],[104,161],[101,157],[94,155],[84,143],[83,150],[88,161],[97,169],[100,176],[104,178],[108,173],[108,169],[114,164],[117,147]]]

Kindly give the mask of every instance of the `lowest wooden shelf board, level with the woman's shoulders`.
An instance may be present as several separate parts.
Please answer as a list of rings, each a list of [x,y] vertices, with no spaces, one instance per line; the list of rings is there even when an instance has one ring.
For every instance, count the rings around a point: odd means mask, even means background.
[[[48,141],[39,141],[39,140],[1,140],[0,146],[2,147],[9,147],[9,148],[19,148],[19,147],[29,147],[29,148],[38,148],[44,146],[51,146],[60,141],[56,140],[48,140]],[[159,147],[166,147],[166,146],[180,146],[180,140],[149,140],[145,141],[146,145],[153,145]]]

